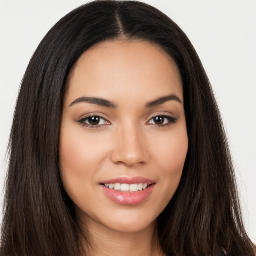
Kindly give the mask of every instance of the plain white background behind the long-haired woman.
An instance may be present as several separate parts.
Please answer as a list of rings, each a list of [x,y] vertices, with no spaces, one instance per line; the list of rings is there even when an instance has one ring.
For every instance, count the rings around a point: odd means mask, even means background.
[[[29,59],[46,32],[86,2],[0,0],[0,192],[14,105]],[[170,16],[202,60],[230,142],[245,225],[256,242],[256,0],[144,2]]]

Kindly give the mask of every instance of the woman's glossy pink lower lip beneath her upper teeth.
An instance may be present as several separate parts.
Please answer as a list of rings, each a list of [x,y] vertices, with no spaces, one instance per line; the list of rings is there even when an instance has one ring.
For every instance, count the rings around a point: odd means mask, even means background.
[[[137,192],[120,192],[114,189],[107,188],[104,185],[100,185],[100,187],[104,194],[114,202],[126,205],[137,205],[145,201],[149,197],[154,188],[154,185],[155,184],[151,184],[146,189]]]

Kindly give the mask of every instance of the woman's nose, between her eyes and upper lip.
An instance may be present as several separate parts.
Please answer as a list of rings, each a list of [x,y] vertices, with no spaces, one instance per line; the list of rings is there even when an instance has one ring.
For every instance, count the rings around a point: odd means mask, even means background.
[[[141,128],[128,124],[116,129],[111,159],[126,166],[148,162],[147,140]]]

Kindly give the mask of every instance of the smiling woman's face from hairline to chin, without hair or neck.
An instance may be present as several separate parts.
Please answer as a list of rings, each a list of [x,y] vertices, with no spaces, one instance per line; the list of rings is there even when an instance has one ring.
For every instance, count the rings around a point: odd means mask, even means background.
[[[81,55],[67,87],[60,171],[79,219],[122,232],[153,225],[188,147],[176,65],[151,43],[106,41]]]

